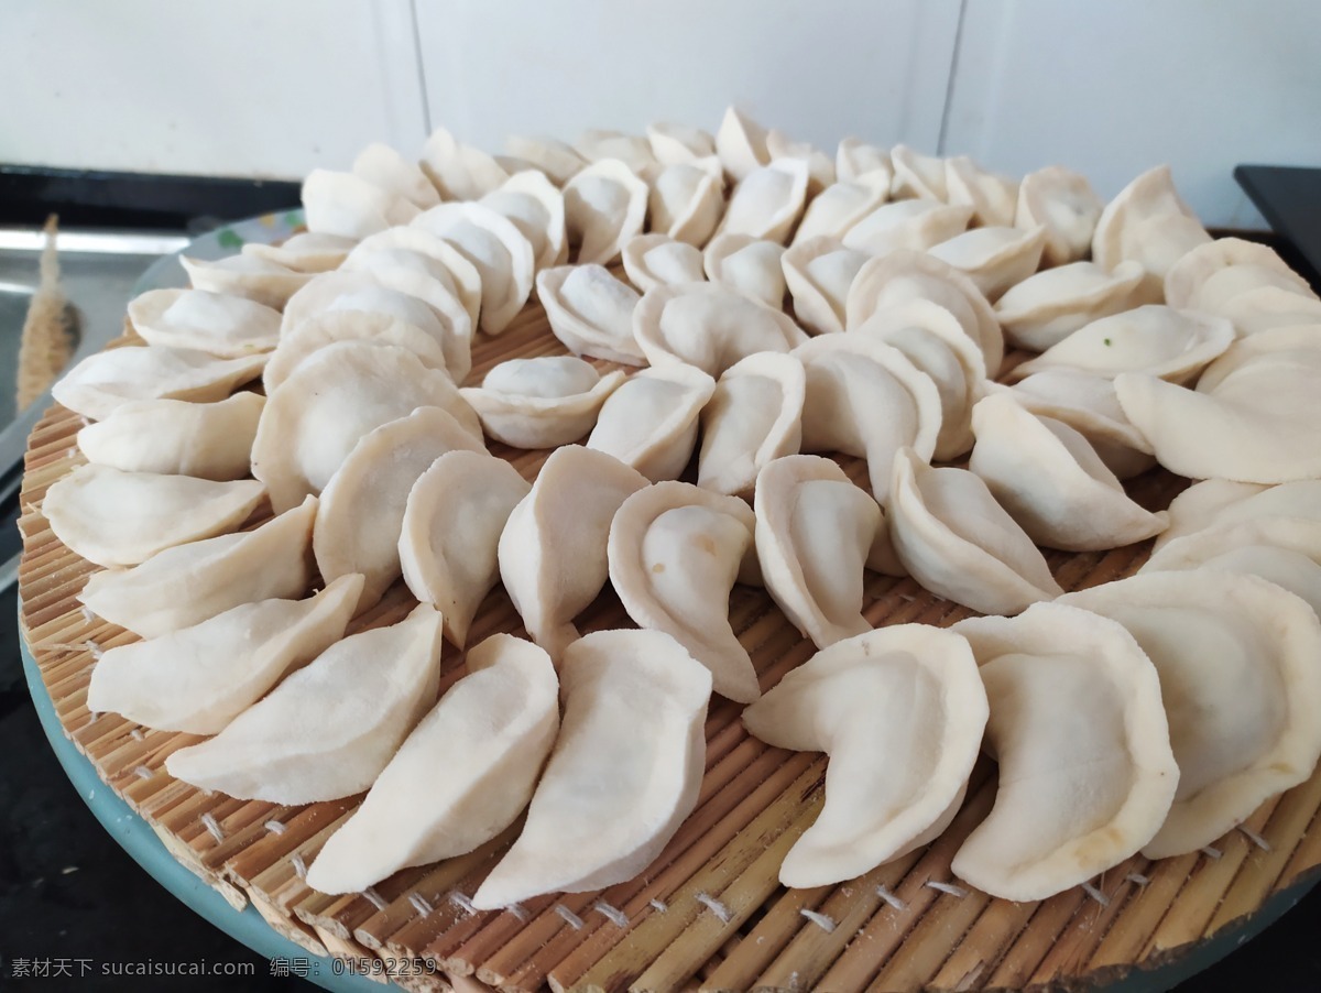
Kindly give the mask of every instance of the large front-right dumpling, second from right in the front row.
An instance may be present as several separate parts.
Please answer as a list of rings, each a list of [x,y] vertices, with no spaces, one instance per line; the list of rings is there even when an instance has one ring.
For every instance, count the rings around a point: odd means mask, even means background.
[[[978,617],[968,639],[991,702],[995,807],[954,856],[993,897],[1040,901],[1135,854],[1174,800],[1156,668],[1123,627],[1058,603]]]

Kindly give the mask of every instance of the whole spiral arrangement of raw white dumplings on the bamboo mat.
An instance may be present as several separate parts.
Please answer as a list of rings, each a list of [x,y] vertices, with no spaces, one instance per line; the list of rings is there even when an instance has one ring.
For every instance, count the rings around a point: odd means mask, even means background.
[[[697,803],[712,693],[830,757],[789,886],[931,841],[982,753],[954,872],[1015,901],[1196,852],[1312,775],[1321,300],[1211,239],[1169,169],[1103,203],[1059,166],[830,156],[731,110],[505,156],[441,129],[303,203],[283,244],[185,257],[190,288],[128,308],[145,347],[58,384],[87,463],[42,510],[106,566],[86,609],[141,638],[89,708],[210,736],[166,763],[207,790],[366,794],[308,885],[524,812],[476,907],[633,878]],[[557,342],[474,378],[530,306]],[[551,452],[526,479],[510,449]],[[1201,482],[1149,510],[1123,481],[1156,465]],[[1071,593],[1041,552],[1149,539]],[[867,570],[983,617],[873,629]],[[416,607],[359,630],[400,582]],[[527,636],[468,647],[497,584]],[[778,685],[737,584],[818,648]],[[637,629],[581,634],[608,585]]]

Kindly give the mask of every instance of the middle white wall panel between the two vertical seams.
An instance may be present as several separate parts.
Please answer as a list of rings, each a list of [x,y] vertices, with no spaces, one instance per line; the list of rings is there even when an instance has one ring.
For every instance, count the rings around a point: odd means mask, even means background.
[[[958,0],[417,0],[433,125],[497,152],[727,104],[834,149],[847,135],[935,151]]]

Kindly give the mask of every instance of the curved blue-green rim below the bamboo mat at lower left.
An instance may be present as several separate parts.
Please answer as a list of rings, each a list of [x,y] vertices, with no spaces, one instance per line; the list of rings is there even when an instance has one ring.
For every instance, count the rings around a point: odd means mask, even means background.
[[[18,610],[21,615],[21,601]],[[308,981],[316,982],[322,989],[336,990],[336,993],[341,990],[345,993],[380,992],[380,984],[365,976],[336,975],[337,967],[329,957],[313,955],[306,948],[301,948],[277,934],[251,903],[243,910],[235,910],[225,897],[176,860],[151,825],[102,780],[91,761],[65,737],[63,725],[55,714],[54,704],[46,692],[46,684],[41,679],[28,639],[21,634],[21,627],[18,643],[22,671],[28,680],[32,702],[37,709],[37,718],[41,721],[46,741],[50,742],[65,775],[69,776],[69,782],[87,804],[92,816],[148,875],[169,890],[186,907],[258,955],[267,959],[308,961],[314,973],[306,977]]]

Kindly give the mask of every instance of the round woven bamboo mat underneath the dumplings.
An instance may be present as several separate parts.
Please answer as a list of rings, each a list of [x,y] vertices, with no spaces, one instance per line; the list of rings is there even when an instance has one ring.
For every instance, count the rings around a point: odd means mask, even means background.
[[[116,346],[128,343],[125,337]],[[560,351],[534,305],[510,331],[477,343],[474,379],[507,358]],[[1266,803],[1247,831],[1180,858],[1131,858],[1095,879],[1092,893],[1079,887],[1040,903],[1011,903],[946,891],[938,885],[956,882],[951,856],[993,799],[993,767],[983,763],[963,811],[927,849],[840,886],[786,890],[777,870],[820,808],[826,761],[762,745],[744,732],[740,708],[716,697],[697,808],[639,878],[602,893],[530,901],[520,914],[470,912],[462,897],[510,844],[515,824],[469,856],[400,872],[367,894],[322,895],[301,877],[358,798],[277,807],[206,794],[164,771],[165,757],[197,738],[89,713],[96,652],[135,635],[82,610],[74,596],[96,566],[69,552],[41,514],[46,487],[83,461],[74,444],[79,427],[77,415],[54,407],[33,430],[20,520],[21,622],[65,733],[169,850],[234,906],[251,902],[275,930],[317,953],[375,960],[378,968],[407,960],[435,971],[396,976],[407,989],[1087,986],[1186,955],[1321,864],[1321,831],[1310,831],[1321,807],[1317,774]],[[544,458],[494,450],[527,478]],[[861,463],[845,467],[865,486]],[[1182,485],[1153,471],[1133,481],[1131,491],[1156,508]],[[1143,544],[1048,552],[1048,559],[1066,589],[1079,589],[1131,573],[1147,552]],[[399,619],[411,605],[396,584],[350,630]],[[948,625],[966,615],[911,580],[868,573],[873,625]],[[737,588],[731,617],[764,688],[812,654],[761,592]],[[584,630],[630,625],[609,590],[583,621]],[[523,634],[509,598],[495,590],[470,642],[502,630]],[[462,673],[462,654],[446,658],[443,685]]]

